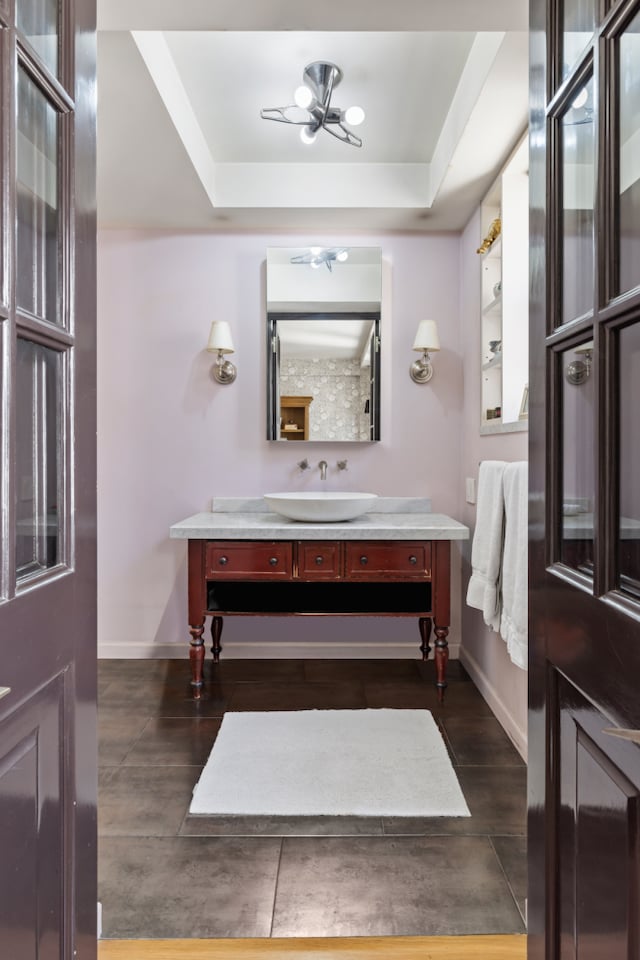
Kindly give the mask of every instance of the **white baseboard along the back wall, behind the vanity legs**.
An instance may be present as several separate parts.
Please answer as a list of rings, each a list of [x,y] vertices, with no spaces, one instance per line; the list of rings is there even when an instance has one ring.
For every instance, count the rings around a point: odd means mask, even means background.
[[[209,645],[206,644],[207,655]],[[449,645],[449,656],[457,660],[460,644]],[[185,660],[187,643],[102,643],[101,660]],[[417,660],[416,643],[273,643],[259,640],[229,642],[222,656],[226,660]]]

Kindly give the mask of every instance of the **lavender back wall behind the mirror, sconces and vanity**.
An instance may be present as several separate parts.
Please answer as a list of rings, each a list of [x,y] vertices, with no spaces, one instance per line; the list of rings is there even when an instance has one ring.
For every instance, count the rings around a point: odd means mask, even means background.
[[[264,261],[269,246],[307,242],[380,246],[384,261],[382,441],[296,447],[265,437]],[[475,239],[474,239],[475,243]],[[467,238],[466,246],[469,246]],[[475,283],[457,236],[166,234],[105,231],[98,246],[99,644],[102,656],[185,655],[186,546],[173,522],[217,496],[319,488],[299,455],[328,460],[327,489],[428,496],[460,518],[462,484],[479,458],[479,347],[463,390],[460,290]],[[478,278],[476,278],[478,279]],[[479,280],[475,283],[476,295]],[[467,294],[467,299],[468,299]],[[442,350],[427,386],[409,365],[418,321],[438,320]],[[231,323],[232,386],[210,376],[212,319]],[[478,311],[473,322],[477,325]],[[470,335],[471,324],[465,329]],[[463,403],[463,396],[466,397]],[[461,438],[464,443],[461,444]],[[496,448],[500,444],[495,441]],[[461,466],[464,450],[464,469]],[[336,461],[349,472],[338,476]],[[515,457],[514,457],[515,458]],[[473,517],[467,517],[473,519]],[[460,640],[460,550],[453,550],[452,648]],[[413,621],[237,618],[223,643],[234,656],[415,656]],[[471,625],[472,633],[475,629]],[[330,636],[328,636],[330,634]],[[474,649],[472,647],[472,649]]]

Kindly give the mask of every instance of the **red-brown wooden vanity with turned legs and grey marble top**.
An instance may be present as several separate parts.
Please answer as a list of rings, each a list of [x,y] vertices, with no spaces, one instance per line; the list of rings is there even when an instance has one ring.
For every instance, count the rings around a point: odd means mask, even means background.
[[[259,512],[256,501],[218,502],[226,509],[196,514],[171,528],[172,538],[188,541],[195,699],[203,686],[206,617],[211,617],[217,662],[224,617],[310,615],[415,617],[423,660],[431,649],[433,623],[436,687],[443,698],[450,541],[467,539],[467,527],[443,514],[415,511],[415,504],[428,501],[414,498],[381,498],[380,512],[331,524],[293,522],[266,513],[264,506]],[[234,503],[244,509],[229,506]],[[404,509],[414,506],[414,512],[398,513],[398,503]]]

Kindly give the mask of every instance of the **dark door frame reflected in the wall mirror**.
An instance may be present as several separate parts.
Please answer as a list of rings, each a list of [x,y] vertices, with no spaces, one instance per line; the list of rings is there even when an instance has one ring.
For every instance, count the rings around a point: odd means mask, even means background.
[[[278,393],[277,364],[277,325],[284,320],[370,320],[373,323],[373,364],[371,392],[371,437],[368,440],[296,440],[295,443],[375,443],[380,440],[380,311],[354,310],[348,315],[344,311],[328,313],[318,311],[300,311],[280,313],[269,311],[267,307],[267,440],[280,440],[280,396]]]

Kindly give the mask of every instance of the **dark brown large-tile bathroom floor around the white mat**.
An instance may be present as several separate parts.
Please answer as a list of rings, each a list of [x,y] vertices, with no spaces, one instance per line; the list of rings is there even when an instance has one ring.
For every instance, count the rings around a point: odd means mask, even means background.
[[[209,664],[209,670],[213,665]],[[99,667],[105,937],[522,933],[526,768],[457,662],[180,660]],[[431,710],[468,818],[189,817],[225,710]]]

